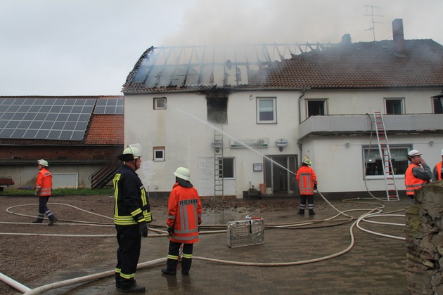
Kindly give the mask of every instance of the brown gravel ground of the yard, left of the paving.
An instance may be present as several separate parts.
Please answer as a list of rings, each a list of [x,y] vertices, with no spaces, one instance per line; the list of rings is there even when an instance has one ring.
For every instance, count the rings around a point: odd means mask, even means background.
[[[0,273],[32,289],[53,282],[52,276],[59,270],[94,269],[96,265],[112,269],[117,249],[112,220],[113,203],[113,197],[109,196],[51,197],[48,206],[59,221],[47,226],[46,219],[44,224],[31,223],[38,211],[36,197],[0,197]],[[165,229],[167,199],[151,199],[150,203],[154,218],[150,226]],[[202,203],[204,216],[217,214],[221,210],[225,212],[226,209],[232,211],[233,215],[245,216],[252,211],[259,214],[287,209],[288,206],[297,207],[295,199],[278,202],[203,199]],[[103,226],[82,225],[80,221]],[[21,293],[0,282],[0,294]]]

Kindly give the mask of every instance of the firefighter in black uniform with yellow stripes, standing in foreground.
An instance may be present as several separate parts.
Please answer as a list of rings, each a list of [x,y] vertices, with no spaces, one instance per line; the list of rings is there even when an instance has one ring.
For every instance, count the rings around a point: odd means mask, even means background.
[[[152,221],[149,199],[136,170],[141,165],[141,147],[128,145],[117,159],[123,165],[115,174],[114,224],[117,230],[117,265],[115,287],[124,292],[144,292],[145,287],[134,280],[139,263],[141,237],[148,236],[148,224]]]

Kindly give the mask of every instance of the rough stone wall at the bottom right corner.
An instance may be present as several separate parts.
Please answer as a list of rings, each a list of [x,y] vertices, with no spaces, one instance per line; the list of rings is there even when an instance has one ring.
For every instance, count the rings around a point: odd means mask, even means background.
[[[406,207],[406,281],[411,294],[443,294],[443,181]]]

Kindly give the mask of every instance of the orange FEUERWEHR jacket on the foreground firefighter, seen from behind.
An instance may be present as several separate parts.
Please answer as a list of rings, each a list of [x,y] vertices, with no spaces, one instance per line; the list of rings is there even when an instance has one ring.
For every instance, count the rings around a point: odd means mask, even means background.
[[[202,204],[195,188],[175,183],[169,194],[167,226],[174,228],[172,242],[193,244],[198,242],[198,225],[202,223]]]

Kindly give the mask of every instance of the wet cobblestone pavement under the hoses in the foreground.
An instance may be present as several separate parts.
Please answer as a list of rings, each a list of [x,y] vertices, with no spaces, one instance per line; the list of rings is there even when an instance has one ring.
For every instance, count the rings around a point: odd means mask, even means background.
[[[272,200],[257,202],[273,202]],[[372,204],[362,204],[371,202]],[[410,201],[378,202],[360,200],[359,204],[331,202],[340,211],[359,217],[368,210],[383,204],[383,213],[404,209]],[[188,276],[162,275],[160,269],[165,264],[137,270],[136,280],[146,287],[149,294],[407,294],[406,286],[406,249],[404,240],[380,237],[355,227],[354,245],[347,253],[312,263],[292,266],[243,266],[200,260],[216,258],[224,261],[243,261],[250,263],[270,263],[310,261],[326,256],[335,256],[351,247],[349,229],[354,221],[335,225],[338,222],[321,222],[337,214],[326,202],[316,202],[316,216],[295,214],[296,208],[264,212],[265,225],[292,224],[306,221],[296,229],[267,228],[264,244],[230,248],[226,232],[201,235],[200,242],[194,245],[194,259]],[[394,214],[404,215],[404,211]],[[392,214],[392,215],[394,215]],[[257,215],[257,214],[255,214]],[[226,211],[203,216],[205,224],[225,224],[228,221],[243,220],[241,214]],[[338,217],[344,220],[343,216]],[[404,224],[402,216],[383,216],[369,219],[388,223]],[[382,232],[385,235],[404,237],[404,226],[380,225],[362,222],[367,230]],[[226,228],[225,228],[226,229]],[[115,245],[110,245],[115,247]],[[143,239],[140,262],[165,258],[167,237],[148,237]],[[103,261],[103,271],[113,270],[115,261]],[[107,268],[108,267],[108,268]],[[67,280],[70,277],[90,275],[87,272],[61,272],[53,280]],[[115,289],[113,277],[105,277],[94,282],[63,287],[45,294],[121,294]]]

